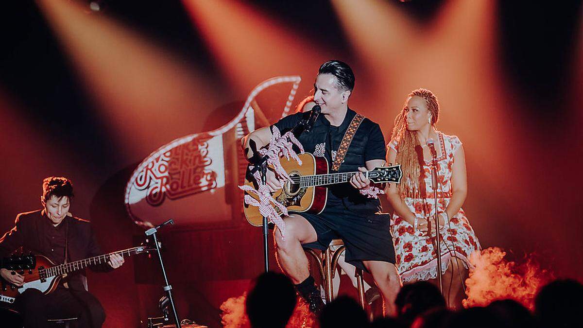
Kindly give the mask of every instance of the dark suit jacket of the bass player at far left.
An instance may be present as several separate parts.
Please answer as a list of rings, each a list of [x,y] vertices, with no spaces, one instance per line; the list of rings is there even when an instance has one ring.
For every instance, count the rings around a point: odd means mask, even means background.
[[[22,247],[24,252],[41,254],[50,257],[47,238],[44,237],[43,220],[48,220],[44,210],[20,213],[16,216],[15,227],[0,238],[0,256],[6,257]],[[77,261],[103,254],[97,245],[93,229],[89,221],[66,216],[61,224],[67,224],[67,261]],[[106,272],[113,268],[107,263],[90,267],[93,271]],[[71,289],[85,289],[84,270],[69,274],[68,284]]]

